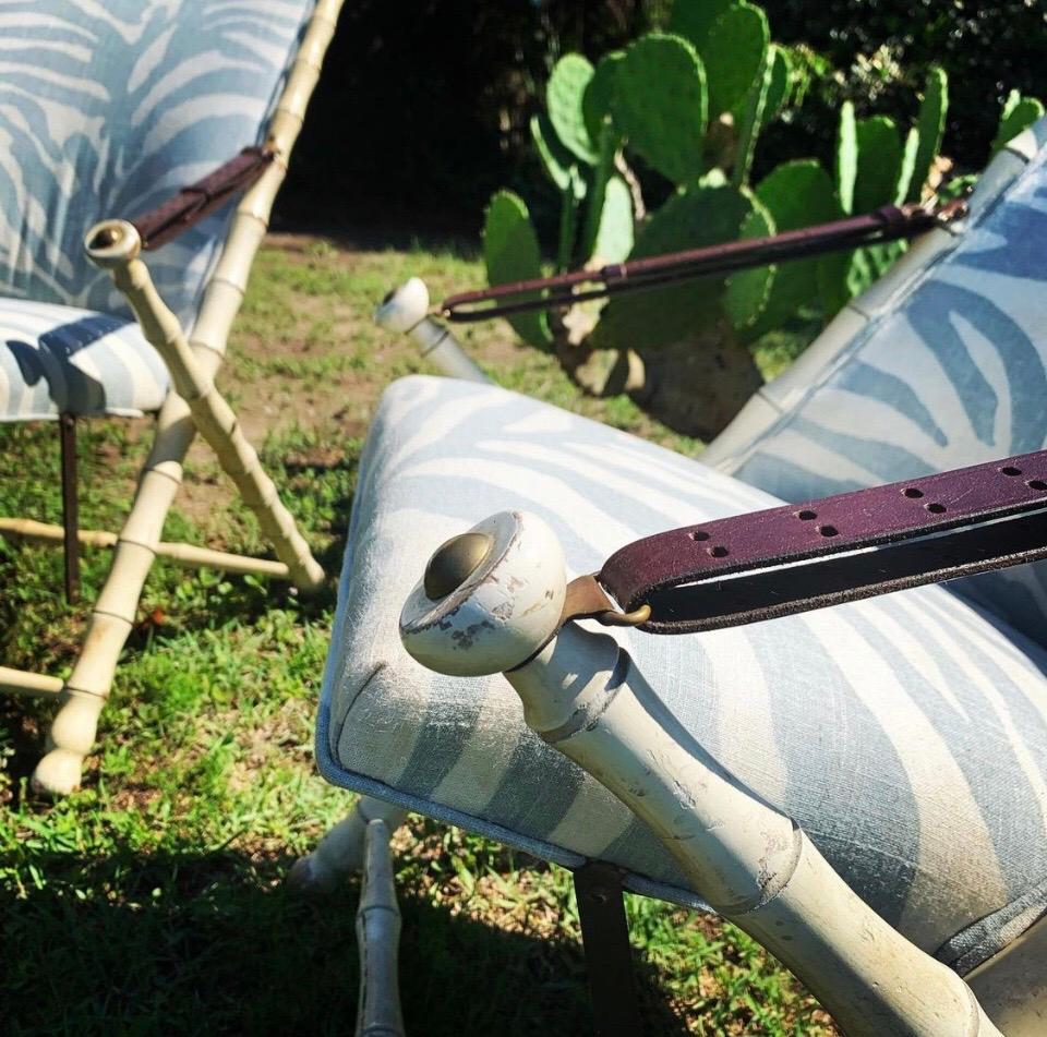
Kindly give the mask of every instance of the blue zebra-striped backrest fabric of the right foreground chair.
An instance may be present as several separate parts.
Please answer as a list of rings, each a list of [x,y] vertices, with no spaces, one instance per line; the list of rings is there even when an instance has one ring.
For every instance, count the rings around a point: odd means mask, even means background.
[[[703,460],[803,501],[1047,446],[1047,120],[985,180]],[[1047,565],[955,588],[1047,644]]]

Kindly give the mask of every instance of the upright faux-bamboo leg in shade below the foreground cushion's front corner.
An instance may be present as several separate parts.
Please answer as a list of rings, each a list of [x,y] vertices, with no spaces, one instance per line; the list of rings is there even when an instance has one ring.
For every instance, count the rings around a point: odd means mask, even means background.
[[[360,997],[357,1037],[404,1037],[400,1011],[400,907],[396,902],[389,829],[372,821],[366,829],[363,887],[357,909]]]

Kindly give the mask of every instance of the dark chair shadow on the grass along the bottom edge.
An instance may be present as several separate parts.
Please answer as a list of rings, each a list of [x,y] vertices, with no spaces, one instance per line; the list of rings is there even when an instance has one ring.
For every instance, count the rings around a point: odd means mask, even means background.
[[[231,851],[79,860],[22,847],[2,894],[8,1035],[349,1034],[358,884],[285,890],[287,858]],[[504,932],[400,891],[411,1035],[591,1034],[585,964],[567,942]],[[649,972],[650,1034],[683,1033]]]

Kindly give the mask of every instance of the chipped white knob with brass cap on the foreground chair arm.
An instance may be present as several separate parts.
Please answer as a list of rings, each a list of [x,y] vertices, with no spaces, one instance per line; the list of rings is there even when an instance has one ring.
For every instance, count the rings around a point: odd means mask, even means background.
[[[400,638],[438,673],[502,673],[556,632],[566,592],[563,548],[549,526],[500,511],[435,552],[400,613]]]

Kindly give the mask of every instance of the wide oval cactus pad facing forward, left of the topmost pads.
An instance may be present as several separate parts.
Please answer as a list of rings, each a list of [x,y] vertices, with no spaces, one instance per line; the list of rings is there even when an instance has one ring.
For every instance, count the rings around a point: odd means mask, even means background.
[[[650,33],[633,44],[615,75],[614,121],[627,144],[674,183],[697,182],[706,136],[706,73],[679,36]]]

